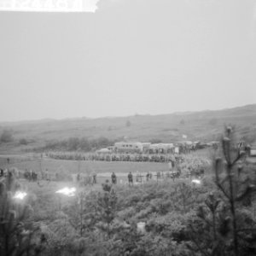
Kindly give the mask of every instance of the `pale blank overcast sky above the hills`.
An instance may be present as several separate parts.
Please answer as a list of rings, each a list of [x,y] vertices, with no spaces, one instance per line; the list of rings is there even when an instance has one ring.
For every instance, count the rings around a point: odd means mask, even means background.
[[[86,3],[0,12],[0,121],[256,103],[255,0]]]

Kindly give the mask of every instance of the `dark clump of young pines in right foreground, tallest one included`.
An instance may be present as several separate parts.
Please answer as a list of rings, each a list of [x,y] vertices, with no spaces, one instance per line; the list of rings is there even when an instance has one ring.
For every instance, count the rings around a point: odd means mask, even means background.
[[[234,127],[226,127],[221,143],[213,166],[217,189],[190,225],[195,246],[190,248],[196,255],[255,255],[256,222],[249,208],[255,187],[243,165],[245,154],[236,147]]]

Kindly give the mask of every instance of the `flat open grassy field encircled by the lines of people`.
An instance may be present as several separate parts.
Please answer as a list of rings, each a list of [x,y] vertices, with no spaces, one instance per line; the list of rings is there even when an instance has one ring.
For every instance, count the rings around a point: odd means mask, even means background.
[[[3,159],[2,159],[3,161]],[[72,174],[80,173],[81,175],[96,172],[97,183],[104,183],[106,179],[111,179],[112,172],[117,175],[117,183],[126,183],[128,172],[135,175],[139,172],[145,176],[147,172],[152,172],[155,179],[156,172],[166,172],[167,163],[152,162],[106,162],[106,161],[74,161],[74,160],[26,160],[9,164],[9,168],[16,167],[19,170],[33,170],[35,172],[49,171],[52,178],[55,173],[62,173],[67,177]]]

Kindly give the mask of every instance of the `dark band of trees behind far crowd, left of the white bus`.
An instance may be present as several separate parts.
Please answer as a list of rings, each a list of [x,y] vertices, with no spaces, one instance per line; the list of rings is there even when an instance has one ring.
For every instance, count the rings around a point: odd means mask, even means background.
[[[44,147],[35,148],[35,151],[84,151],[91,152],[100,148],[113,146],[117,140],[109,140],[106,137],[88,139],[86,137],[69,137],[67,140],[50,141]]]

